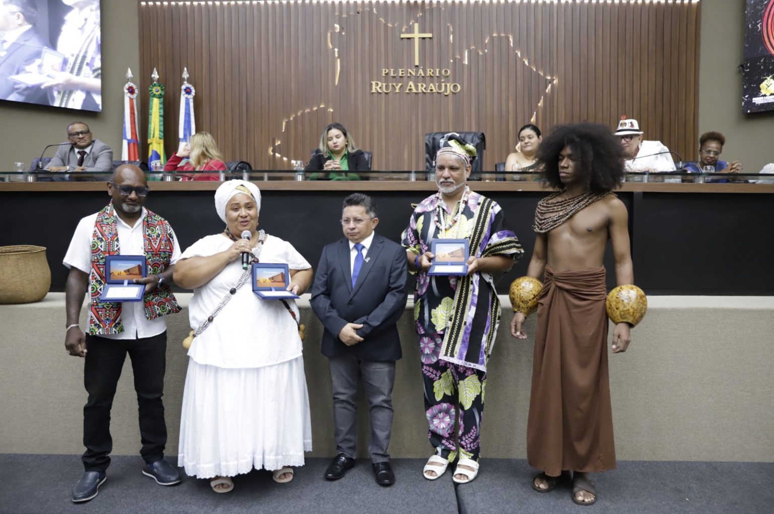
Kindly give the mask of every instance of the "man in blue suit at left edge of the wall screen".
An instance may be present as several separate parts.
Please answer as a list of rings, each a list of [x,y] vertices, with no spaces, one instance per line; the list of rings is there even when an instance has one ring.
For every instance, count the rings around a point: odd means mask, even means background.
[[[36,31],[38,5],[29,0],[0,0],[0,100],[50,104],[46,90],[9,77],[25,73],[48,46]]]

